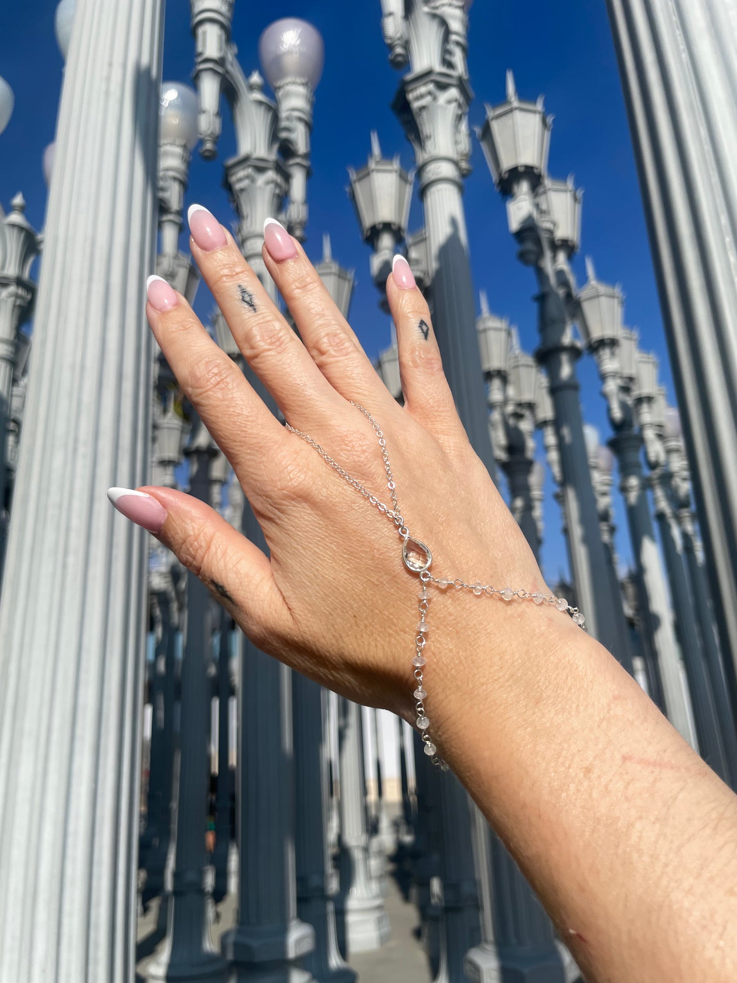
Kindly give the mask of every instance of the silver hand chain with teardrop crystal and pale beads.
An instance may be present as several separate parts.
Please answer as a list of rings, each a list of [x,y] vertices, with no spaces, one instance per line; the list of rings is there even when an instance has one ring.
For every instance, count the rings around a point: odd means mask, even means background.
[[[389,490],[389,494],[391,496],[391,502],[392,502],[391,508],[385,505],[384,502],[380,501],[376,497],[376,495],[371,494],[371,492],[369,492],[368,489],[364,488],[364,486],[361,484],[360,481],[358,481],[358,479],[354,478],[345,470],[345,468],[341,467],[341,465],[338,464],[338,462],[333,457],[331,457],[324,449],[324,447],[320,446],[320,444],[318,444],[317,441],[312,436],[310,436],[310,434],[305,434],[303,431],[298,431],[295,427],[292,427],[291,424],[286,422],[285,422],[285,426],[287,430],[301,437],[303,440],[305,440],[306,443],[309,443],[310,446],[317,451],[317,453],[320,455],[322,460],[325,461],[327,464],[329,464],[330,467],[333,469],[333,471],[337,472],[337,474],[339,474],[340,477],[345,482],[347,482],[348,485],[351,486],[351,488],[355,489],[357,492],[360,492],[360,494],[362,494],[369,501],[371,505],[376,506],[379,512],[382,512],[389,519],[391,519],[391,521],[394,523],[394,525],[397,528],[397,532],[404,540],[404,548],[402,550],[402,556],[405,562],[405,566],[407,566],[409,570],[412,570],[415,573],[419,573],[420,580],[422,581],[421,591],[418,596],[420,602],[419,604],[420,621],[418,622],[416,628],[415,655],[412,659],[413,674],[415,676],[415,681],[417,682],[417,688],[413,693],[413,697],[415,699],[415,714],[417,716],[416,725],[425,743],[425,754],[432,759],[432,763],[434,765],[437,765],[439,768],[442,769],[447,769],[447,765],[445,764],[445,762],[443,762],[437,756],[436,753],[437,748],[433,744],[432,739],[430,738],[427,732],[430,722],[425,713],[424,701],[427,696],[427,693],[425,691],[425,686],[424,686],[425,677],[423,672],[423,666],[427,662],[427,660],[425,659],[425,652],[424,652],[425,646],[427,644],[427,640],[425,636],[427,634],[427,631],[429,630],[427,617],[426,617],[427,607],[429,603],[427,585],[434,584],[436,587],[438,587],[441,590],[452,586],[457,591],[461,591],[461,590],[472,591],[477,597],[481,595],[486,595],[487,597],[491,597],[494,594],[498,594],[499,597],[502,599],[502,601],[512,601],[515,598],[517,598],[520,601],[533,601],[537,605],[541,605],[541,604],[553,605],[558,610],[565,611],[566,613],[570,614],[570,616],[573,618],[575,623],[579,625],[579,627],[581,628],[584,627],[585,618],[584,615],[581,613],[581,611],[578,609],[578,607],[571,607],[564,598],[556,598],[554,594],[539,594],[538,592],[530,592],[530,591],[523,591],[523,590],[513,591],[509,587],[504,587],[499,589],[497,587],[492,587],[490,584],[484,585],[482,584],[481,581],[476,581],[473,584],[467,584],[466,581],[462,580],[460,577],[457,577],[455,580],[447,580],[444,577],[433,577],[428,569],[430,562],[432,560],[432,554],[430,553],[430,550],[427,549],[427,547],[425,547],[424,543],[420,543],[418,540],[414,540],[410,536],[410,531],[405,525],[404,518],[402,517],[402,514],[399,511],[399,502],[397,501],[396,484],[394,482],[394,475],[392,474],[391,465],[389,464],[389,454],[386,450],[386,440],[384,438],[384,434],[382,433],[380,427],[373,419],[373,417],[370,415],[369,410],[367,410],[366,407],[361,406],[360,403],[355,403],[353,400],[349,400],[349,402],[351,403],[351,406],[355,406],[357,410],[359,410],[361,413],[364,414],[366,419],[369,421],[369,424],[371,425],[374,434],[376,434],[376,436],[378,437],[378,444],[379,447],[381,448],[381,457],[384,462],[384,471],[386,472],[386,487]],[[409,547],[409,552],[408,552],[408,547]],[[421,554],[419,559],[418,558],[413,559],[412,556],[410,555],[412,549],[414,548],[417,548],[417,550]],[[425,556],[423,555],[423,551],[426,554]]]

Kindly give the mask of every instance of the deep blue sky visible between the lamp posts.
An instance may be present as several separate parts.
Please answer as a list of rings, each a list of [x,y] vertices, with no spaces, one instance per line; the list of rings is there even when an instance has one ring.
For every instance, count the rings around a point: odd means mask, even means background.
[[[100,0],[102,2],[102,0]],[[43,225],[46,190],[41,173],[45,145],[54,139],[56,111],[63,78],[62,59],[54,38],[55,0],[10,5],[0,33],[0,76],[13,87],[16,107],[0,135],[0,202],[22,190],[29,220]],[[189,28],[189,3],[169,0],[164,40],[164,78],[188,81],[194,45]],[[321,253],[323,232],[329,232],[333,255],[354,267],[358,285],[352,322],[367,351],[375,355],[389,343],[388,319],[376,306],[369,276],[369,249],[361,241],[353,207],[346,196],[348,165],[360,166],[369,153],[369,132],[378,131],[385,155],[400,153],[406,167],[412,152],[394,118],[390,103],[399,76],[390,67],[381,39],[379,0],[271,0],[269,4],[236,0],[233,35],[248,72],[257,67],[258,36],[268,23],[286,16],[311,21],[325,39],[325,70],[316,91],[312,136],[313,176],[310,183],[310,227],[307,249]],[[513,69],[523,98],[545,95],[554,114],[549,170],[554,177],[574,173],[585,190],[583,252],[595,259],[598,277],[620,282],[627,296],[625,317],[641,332],[641,345],[660,359],[660,374],[672,399],[672,383],[662,334],[652,261],[635,173],[624,104],[603,0],[476,0],[471,10],[469,67],[476,99],[472,126],[483,118],[483,102],[504,99],[504,76]],[[220,155],[215,161],[195,156],[187,203],[201,202],[225,223],[233,218],[222,189],[223,161],[234,151],[227,118]],[[536,307],[532,272],[515,258],[503,202],[495,192],[474,141],[474,173],[467,180],[466,212],[477,290],[485,289],[493,311],[519,326],[522,346],[536,346]],[[414,202],[410,229],[422,224]],[[186,238],[183,237],[183,246]],[[586,275],[583,256],[574,260],[579,281]],[[210,300],[200,288],[197,308],[206,315]],[[608,434],[605,406],[591,357],[580,363],[586,419]],[[543,566],[554,579],[565,570],[558,507],[547,484]],[[617,545],[628,560],[625,516],[616,498]]]

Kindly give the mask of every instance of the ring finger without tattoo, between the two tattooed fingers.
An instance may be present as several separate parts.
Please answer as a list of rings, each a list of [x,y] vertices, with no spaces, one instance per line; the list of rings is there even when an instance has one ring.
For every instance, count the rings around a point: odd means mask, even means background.
[[[386,390],[353,328],[302,246],[275,219],[263,226],[263,261],[286,301],[312,361],[346,399],[388,405]]]

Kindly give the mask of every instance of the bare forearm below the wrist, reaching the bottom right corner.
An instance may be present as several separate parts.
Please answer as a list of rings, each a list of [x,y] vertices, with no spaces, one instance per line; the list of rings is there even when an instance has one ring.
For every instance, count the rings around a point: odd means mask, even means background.
[[[556,611],[440,622],[470,645],[425,673],[439,745],[587,979],[734,979],[737,798]]]

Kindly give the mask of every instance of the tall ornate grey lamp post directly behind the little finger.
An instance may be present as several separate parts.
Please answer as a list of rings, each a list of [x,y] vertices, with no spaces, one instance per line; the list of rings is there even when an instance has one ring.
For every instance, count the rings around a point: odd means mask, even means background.
[[[463,0],[385,2],[383,26],[392,64],[410,66],[393,108],[415,151],[435,336],[458,414],[493,478],[462,198],[464,178],[471,172],[469,6]]]

